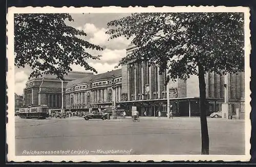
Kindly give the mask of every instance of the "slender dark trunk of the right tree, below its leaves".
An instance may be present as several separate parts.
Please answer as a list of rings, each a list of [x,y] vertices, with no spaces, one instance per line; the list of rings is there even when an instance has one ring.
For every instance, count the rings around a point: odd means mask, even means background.
[[[200,122],[201,122],[201,154],[209,154],[209,134],[206,120],[206,85],[204,79],[204,67],[198,65],[199,91],[200,91]]]

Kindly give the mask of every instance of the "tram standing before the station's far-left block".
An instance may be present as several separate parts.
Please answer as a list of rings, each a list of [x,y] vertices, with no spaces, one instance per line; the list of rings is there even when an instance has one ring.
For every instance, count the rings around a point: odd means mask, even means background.
[[[46,119],[49,117],[49,107],[47,105],[36,105],[19,108],[19,117]]]

